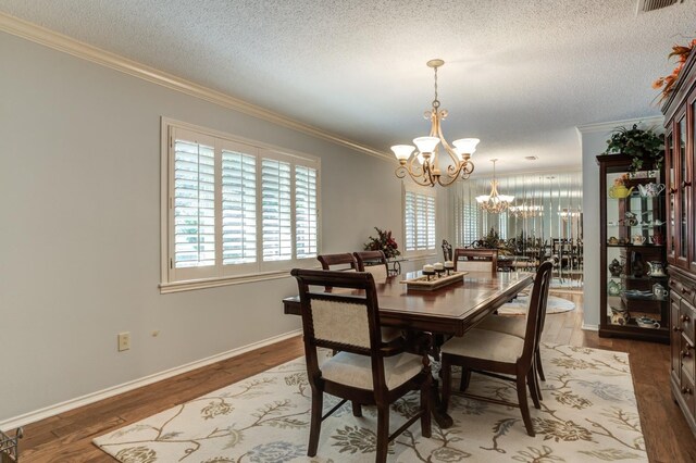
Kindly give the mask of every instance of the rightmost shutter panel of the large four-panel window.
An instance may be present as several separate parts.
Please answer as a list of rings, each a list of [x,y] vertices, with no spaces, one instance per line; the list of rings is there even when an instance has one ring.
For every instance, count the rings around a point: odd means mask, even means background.
[[[316,170],[295,166],[295,249],[296,259],[316,256]]]

